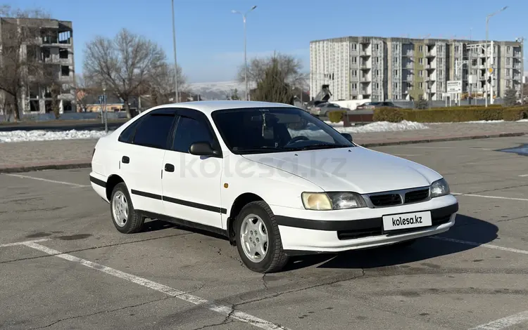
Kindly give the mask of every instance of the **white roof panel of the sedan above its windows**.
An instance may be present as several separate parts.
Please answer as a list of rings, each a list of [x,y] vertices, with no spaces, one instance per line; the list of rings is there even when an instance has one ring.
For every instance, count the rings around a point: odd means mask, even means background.
[[[271,103],[260,101],[240,101],[240,100],[218,100],[218,101],[192,101],[184,103],[170,103],[153,107],[150,110],[155,110],[163,107],[184,107],[201,111],[205,114],[210,114],[216,110],[241,109],[251,107],[294,107],[293,105],[284,103]]]

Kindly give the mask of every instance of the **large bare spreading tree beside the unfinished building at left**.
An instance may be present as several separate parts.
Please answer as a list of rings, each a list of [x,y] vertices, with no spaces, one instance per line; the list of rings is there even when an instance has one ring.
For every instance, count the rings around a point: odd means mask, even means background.
[[[96,37],[84,48],[84,72],[122,98],[127,117],[135,115],[130,112],[130,98],[137,96],[164,62],[160,46],[127,29],[114,39]]]

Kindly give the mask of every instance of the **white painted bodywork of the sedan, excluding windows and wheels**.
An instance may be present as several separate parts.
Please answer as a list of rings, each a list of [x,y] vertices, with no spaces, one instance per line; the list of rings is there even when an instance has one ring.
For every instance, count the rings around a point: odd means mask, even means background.
[[[120,133],[132,122],[153,110],[171,107],[192,109],[205,114],[218,139],[222,157],[195,156],[118,141]],[[234,202],[243,194],[255,194],[270,206],[277,221],[280,219],[282,245],[288,251],[345,251],[381,246],[436,235],[454,225],[458,202],[452,194],[429,198],[423,202],[387,207],[372,206],[332,211],[305,209],[301,200],[302,192],[340,191],[369,194],[417,187],[429,189],[429,186],[442,176],[413,161],[360,146],[234,154],[222,140],[211,112],[244,107],[292,106],[216,101],[153,107],[98,141],[90,174],[92,187],[108,202],[105,185],[111,176],[120,176],[127,185],[135,209],[208,225],[225,232],[225,235],[229,235],[227,226]],[[125,155],[130,157],[130,164],[122,164],[121,158]],[[166,163],[174,164],[175,171],[164,171]],[[324,164],[320,165],[321,163]],[[193,170],[198,175],[182,176],[182,168],[184,171]],[[163,197],[144,197],[132,194],[132,190]],[[177,201],[167,201],[167,197]],[[346,226],[349,225],[361,222],[364,225],[379,223],[379,226],[382,226],[382,216],[432,210],[440,212],[436,213],[436,220],[441,218],[436,224],[433,219],[432,226],[398,233],[386,233],[381,228],[372,235],[352,239],[339,238],[339,231],[346,231]],[[308,225],[291,225],[294,222]]]

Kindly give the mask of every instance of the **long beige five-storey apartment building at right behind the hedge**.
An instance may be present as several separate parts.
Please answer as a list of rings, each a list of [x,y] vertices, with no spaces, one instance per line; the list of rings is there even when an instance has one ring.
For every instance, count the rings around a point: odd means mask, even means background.
[[[462,98],[483,98],[488,78],[485,45],[470,40],[383,37],[311,41],[310,91],[328,84],[333,100],[444,100],[447,81],[458,80]],[[493,60],[491,56],[487,60],[494,68],[494,97],[503,97],[508,88],[520,92],[522,44],[494,41],[493,48]]]

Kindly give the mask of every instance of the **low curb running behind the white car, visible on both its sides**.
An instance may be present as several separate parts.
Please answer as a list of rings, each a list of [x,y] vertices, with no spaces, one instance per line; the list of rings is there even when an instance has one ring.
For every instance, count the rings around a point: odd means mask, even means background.
[[[433,143],[433,142],[446,142],[446,141],[460,141],[460,140],[477,140],[484,138],[509,138],[515,136],[525,136],[528,135],[526,132],[518,133],[499,133],[499,134],[490,134],[486,136],[453,136],[448,138],[429,138],[422,140],[404,140],[404,141],[394,141],[394,142],[380,142],[380,143],[364,143],[358,145],[362,147],[384,147],[388,145],[412,145],[417,143]],[[90,161],[78,161],[71,162],[66,164],[39,164],[39,165],[28,165],[28,166],[13,166],[0,168],[0,173],[22,173],[30,171],[44,171],[44,170],[63,170],[63,169],[87,169],[92,167]]]

